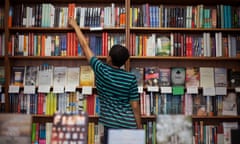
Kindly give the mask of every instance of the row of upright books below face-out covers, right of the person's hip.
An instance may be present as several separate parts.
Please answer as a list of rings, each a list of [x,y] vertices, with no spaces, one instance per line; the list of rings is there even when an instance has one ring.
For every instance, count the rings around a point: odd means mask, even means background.
[[[202,94],[140,94],[141,115],[183,114],[195,116],[240,115],[240,99],[235,92],[226,95],[204,96]]]

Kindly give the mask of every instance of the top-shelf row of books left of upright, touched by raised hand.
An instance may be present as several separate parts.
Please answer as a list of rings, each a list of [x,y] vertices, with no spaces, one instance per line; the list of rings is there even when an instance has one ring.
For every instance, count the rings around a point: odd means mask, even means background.
[[[103,7],[76,6],[75,3],[66,6],[19,4],[10,7],[9,14],[10,27],[68,27],[69,16],[74,17],[80,27],[124,27],[126,24],[125,7],[115,3]]]

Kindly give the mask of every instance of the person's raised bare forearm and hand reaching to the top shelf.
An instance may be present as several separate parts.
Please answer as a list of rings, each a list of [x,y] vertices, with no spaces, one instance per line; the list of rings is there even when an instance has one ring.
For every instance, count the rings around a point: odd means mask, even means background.
[[[79,26],[77,25],[77,22],[74,20],[74,18],[69,17],[68,23],[71,27],[74,28],[76,35],[78,37],[78,41],[81,45],[81,48],[87,58],[88,61],[94,56],[92,50],[90,49],[82,31],[80,30]]]

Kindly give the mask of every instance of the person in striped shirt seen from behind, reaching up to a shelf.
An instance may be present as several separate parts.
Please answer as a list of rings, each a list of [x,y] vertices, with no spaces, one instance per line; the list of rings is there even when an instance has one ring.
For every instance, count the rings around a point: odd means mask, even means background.
[[[121,69],[129,58],[129,51],[120,44],[113,45],[106,63],[94,56],[74,18],[69,18],[82,51],[95,74],[96,89],[100,100],[99,123],[104,126],[104,144],[109,129],[141,129],[140,97],[136,76]]]

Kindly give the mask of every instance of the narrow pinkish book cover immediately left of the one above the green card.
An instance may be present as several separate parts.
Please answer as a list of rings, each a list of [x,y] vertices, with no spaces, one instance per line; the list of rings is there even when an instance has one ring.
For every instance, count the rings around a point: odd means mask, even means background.
[[[159,85],[170,86],[171,85],[171,69],[159,68]]]

